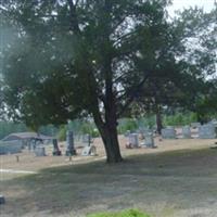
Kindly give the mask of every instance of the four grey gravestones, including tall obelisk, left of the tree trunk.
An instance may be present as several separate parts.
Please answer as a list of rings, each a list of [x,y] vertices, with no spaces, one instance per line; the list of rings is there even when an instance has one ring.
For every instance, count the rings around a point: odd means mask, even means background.
[[[84,148],[81,155],[82,156],[89,156],[89,155],[95,155],[97,150],[94,145],[91,145],[92,143],[92,138],[90,135],[86,135],[84,137],[84,143],[87,143],[87,145]],[[75,149],[75,142],[74,142],[74,133],[73,131],[67,131],[66,132],[66,156],[72,156],[76,155],[76,149]],[[38,145],[35,149],[35,154],[36,156],[46,156],[46,148],[43,145]],[[60,156],[62,155],[62,152],[59,148],[58,140],[53,139],[53,155],[54,156]]]

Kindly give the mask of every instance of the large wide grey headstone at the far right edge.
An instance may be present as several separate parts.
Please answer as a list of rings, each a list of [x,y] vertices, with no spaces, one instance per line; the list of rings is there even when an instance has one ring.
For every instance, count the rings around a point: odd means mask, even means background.
[[[217,138],[217,128],[213,124],[202,125],[199,128],[200,139],[215,139]]]

